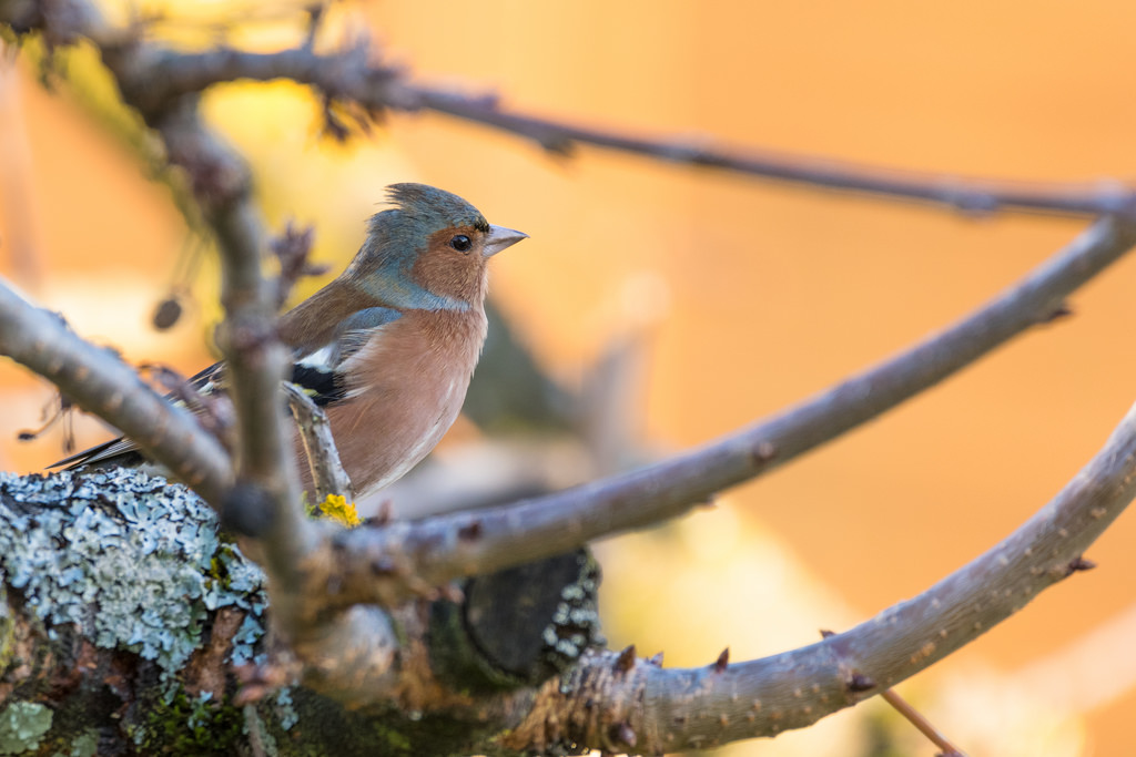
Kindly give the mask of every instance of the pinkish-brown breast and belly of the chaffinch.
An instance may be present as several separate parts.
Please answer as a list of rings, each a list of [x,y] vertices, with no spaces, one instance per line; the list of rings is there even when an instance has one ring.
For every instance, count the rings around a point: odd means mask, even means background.
[[[414,468],[457,419],[485,340],[481,308],[411,310],[348,359],[348,396],[327,407],[356,491]],[[304,489],[310,471],[301,465]]]

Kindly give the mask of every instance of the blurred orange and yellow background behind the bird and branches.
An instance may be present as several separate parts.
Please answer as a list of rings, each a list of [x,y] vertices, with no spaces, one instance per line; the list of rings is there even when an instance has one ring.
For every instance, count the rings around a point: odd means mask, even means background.
[[[189,20],[156,35],[186,45],[210,39],[202,17],[244,17],[218,3],[165,7]],[[233,40],[294,43],[293,18]],[[393,0],[336,6],[324,36],[367,31],[424,81],[496,91],[519,110],[587,125],[954,175],[1124,180],[1136,175],[1134,27],[1136,6],[1118,1]],[[94,115],[112,110],[95,59],[70,62],[94,93],[83,101],[45,93],[27,58],[0,75],[0,272],[80,333],[192,373],[211,360],[211,262],[183,323],[154,333],[150,312],[192,246],[185,224]],[[966,219],[588,148],[554,159],[428,113],[391,116],[369,140],[340,146],[318,138],[315,103],[289,84],[233,84],[206,98],[209,118],[254,167],[268,227],[315,224],[317,256],[339,267],[382,187],[421,180],[525,230],[532,241],[494,261],[498,303],[568,386],[615,340],[644,340],[649,362],[628,415],[641,419],[641,443],[659,449],[711,439],[893,354],[1085,226]],[[776,653],[864,620],[994,545],[1136,399],[1134,291],[1129,259],[1075,295],[1072,318],[728,493],[713,511],[601,545],[611,646],[663,649],[668,665],[705,664],[725,646],[734,659]],[[0,392],[0,466],[34,471],[58,459],[59,435],[15,441],[51,392],[7,363]],[[78,431],[81,446],[107,435],[90,420]],[[1088,553],[1097,570],[899,690],[971,755],[1136,754],[1134,538],[1136,518],[1126,515]],[[934,748],[871,700],[719,754]]]

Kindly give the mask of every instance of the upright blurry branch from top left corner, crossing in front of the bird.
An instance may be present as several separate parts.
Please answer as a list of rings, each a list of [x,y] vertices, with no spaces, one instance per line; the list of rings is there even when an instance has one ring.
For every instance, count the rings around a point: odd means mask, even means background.
[[[279,401],[290,355],[276,334],[279,291],[261,270],[268,244],[252,208],[248,168],[201,121],[195,94],[152,96],[162,86],[160,74],[148,67],[152,45],[136,35],[122,37],[81,0],[35,6],[34,11],[42,16],[32,20],[48,37],[94,42],[124,102],[157,131],[169,162],[185,171],[214,233],[225,309],[217,343],[237,430],[235,483],[224,494],[222,516],[262,547],[276,617],[290,629],[302,604],[302,558],[318,540],[318,529],[300,507],[291,431]]]

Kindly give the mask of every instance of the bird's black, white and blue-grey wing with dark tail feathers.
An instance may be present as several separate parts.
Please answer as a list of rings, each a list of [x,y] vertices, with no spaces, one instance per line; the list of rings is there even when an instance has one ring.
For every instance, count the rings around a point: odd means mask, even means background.
[[[332,340],[303,355],[296,355],[292,363],[291,381],[308,393],[320,406],[332,404],[346,396],[348,387],[340,368],[343,362],[381,333],[382,328],[401,317],[391,308],[367,308],[352,313],[336,328]],[[225,390],[225,363],[217,362],[189,381],[189,387],[203,396]],[[174,404],[186,403],[174,395],[166,395]],[[189,407],[194,413],[204,412],[203,404]],[[139,446],[126,437],[118,437],[100,445],[65,457],[48,468],[81,468],[83,465],[136,465],[144,460]]]

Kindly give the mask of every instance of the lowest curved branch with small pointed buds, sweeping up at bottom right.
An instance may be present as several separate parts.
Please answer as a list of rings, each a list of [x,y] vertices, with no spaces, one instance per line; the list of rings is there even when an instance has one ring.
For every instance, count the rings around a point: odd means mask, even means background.
[[[568,681],[544,685],[509,743],[540,749],[556,734],[593,749],[662,754],[811,725],[914,675],[1092,567],[1081,554],[1134,496],[1136,406],[1047,505],[918,597],[808,647],[735,665],[719,658],[663,670],[626,651],[596,654]],[[549,713],[559,720],[545,720]]]

